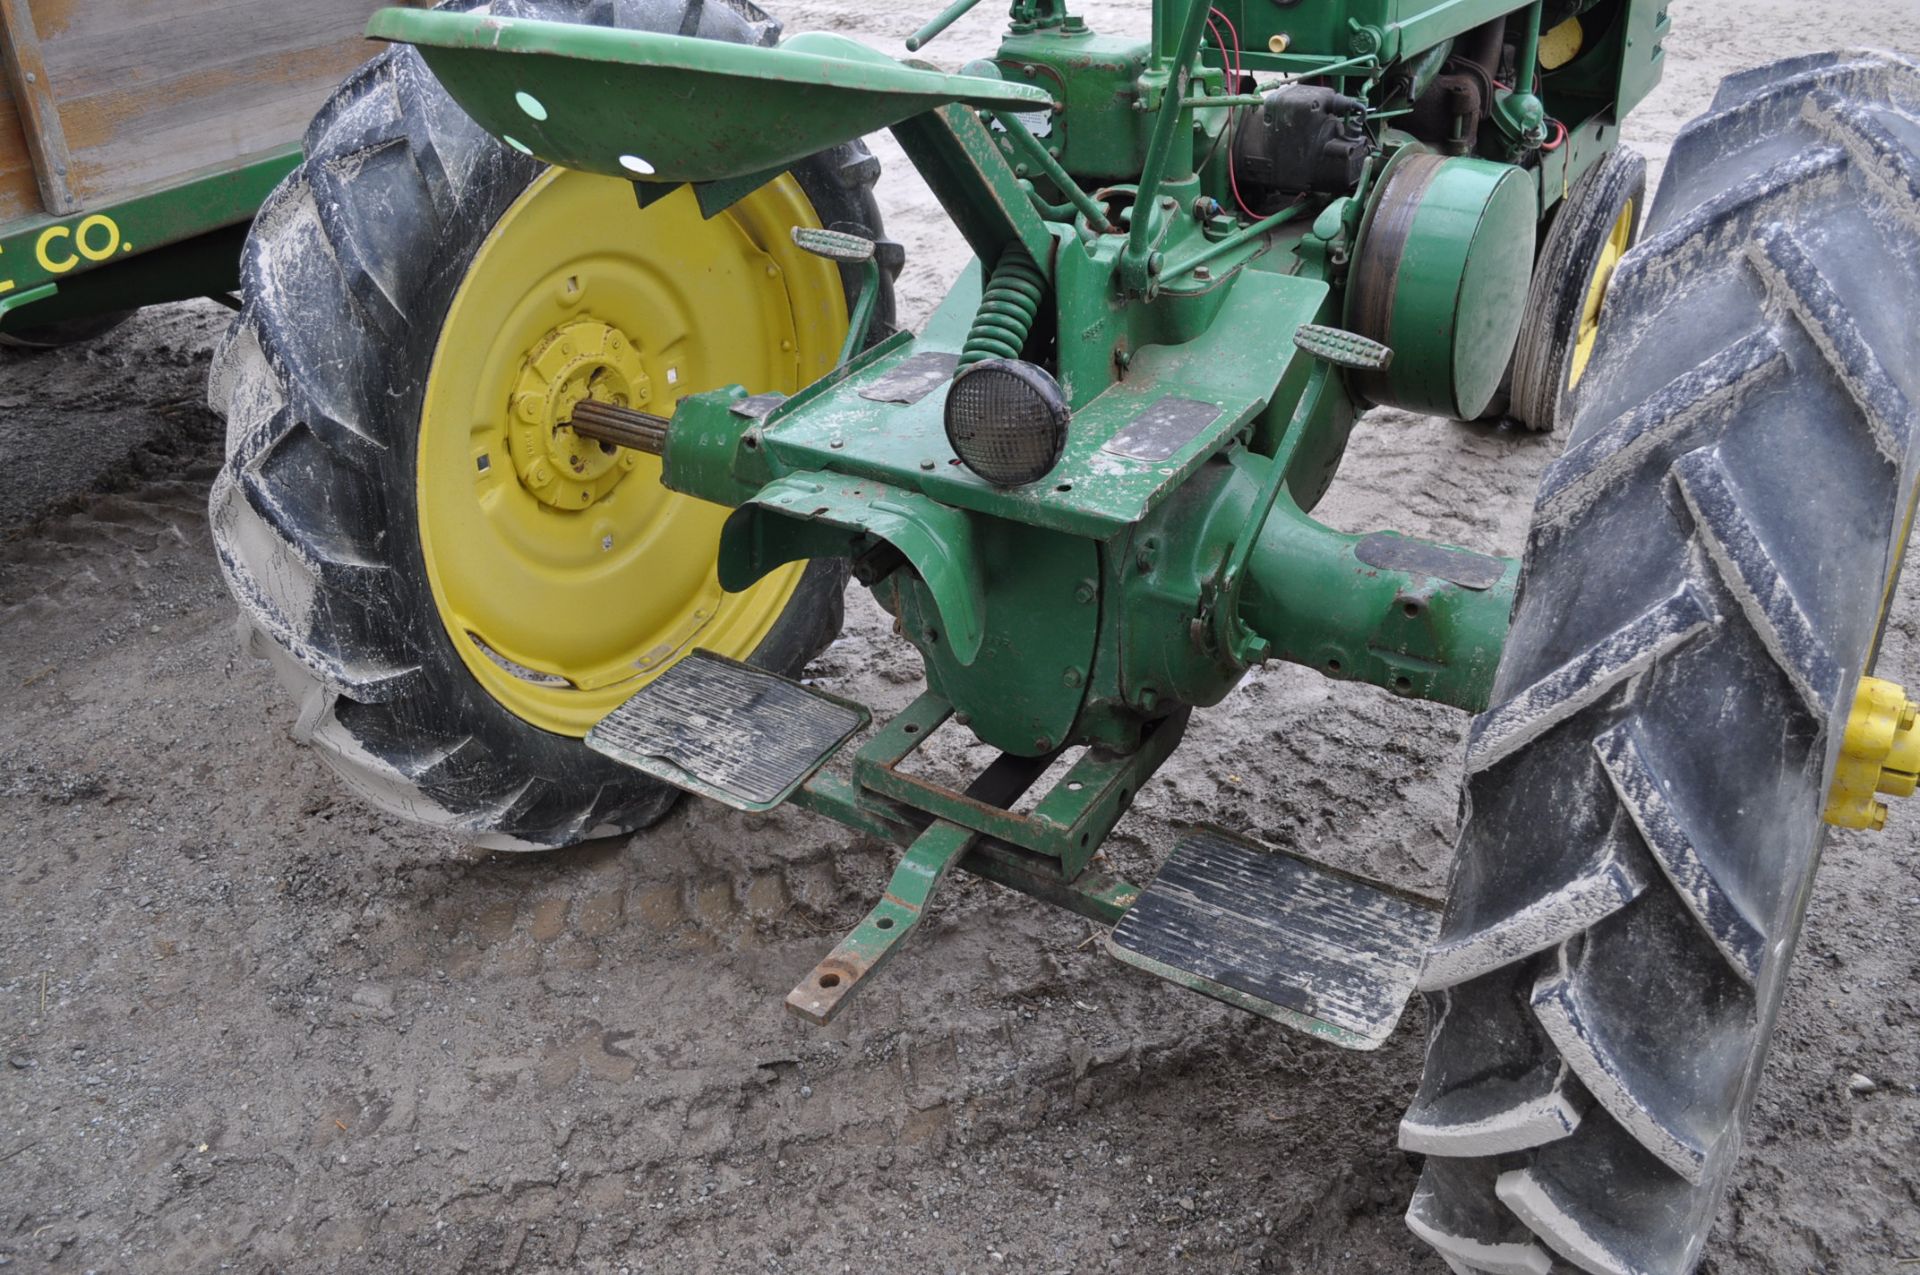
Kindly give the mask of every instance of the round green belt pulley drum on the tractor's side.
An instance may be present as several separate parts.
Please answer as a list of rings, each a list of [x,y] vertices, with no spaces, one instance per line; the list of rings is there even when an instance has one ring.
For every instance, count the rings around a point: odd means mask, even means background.
[[[1513,359],[1534,271],[1532,179],[1509,163],[1402,150],[1359,230],[1346,326],[1392,348],[1359,373],[1375,403],[1473,421]]]

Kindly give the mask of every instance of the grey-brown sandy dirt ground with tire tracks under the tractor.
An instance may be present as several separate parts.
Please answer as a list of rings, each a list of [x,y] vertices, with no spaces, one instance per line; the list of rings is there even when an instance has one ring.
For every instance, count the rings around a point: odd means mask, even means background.
[[[787,17],[895,44],[924,6],[874,8]],[[933,52],[985,52],[989,8]],[[1832,44],[1920,50],[1920,8],[1676,0],[1630,138],[1657,161],[1718,75]],[[912,321],[962,250],[877,148]],[[357,805],[234,643],[204,528],[223,323],[173,307],[0,355],[0,1265],[1442,1275],[1394,1150],[1419,1008],[1340,1052],[954,881],[816,1031],[781,995],[877,893],[881,847],[685,803],[492,856]],[[1549,455],[1377,413],[1323,513],[1515,553]],[[904,705],[918,659],[858,589],[849,611],[812,676]],[[1916,624],[1908,582],[1885,676],[1920,680]],[[1263,670],[1110,856],[1146,879],[1210,820],[1438,889],[1463,722]],[[1830,845],[1715,1275],[1920,1269],[1916,830],[1907,808]]]

